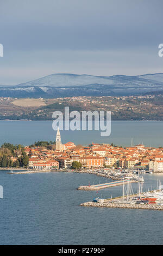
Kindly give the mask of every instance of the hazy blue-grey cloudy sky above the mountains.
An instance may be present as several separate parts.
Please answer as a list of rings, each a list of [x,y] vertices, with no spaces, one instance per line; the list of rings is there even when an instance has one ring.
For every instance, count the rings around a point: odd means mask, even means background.
[[[162,0],[0,0],[0,84],[163,72]]]

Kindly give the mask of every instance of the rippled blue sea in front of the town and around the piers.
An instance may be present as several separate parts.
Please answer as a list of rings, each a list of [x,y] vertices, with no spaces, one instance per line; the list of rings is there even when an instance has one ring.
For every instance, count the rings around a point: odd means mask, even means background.
[[[146,174],[144,189],[156,188],[163,175]],[[108,180],[107,180],[108,181]],[[162,245],[162,211],[84,208],[80,203],[96,191],[79,185],[105,178],[79,173],[8,175],[0,171],[1,245]],[[137,184],[132,184],[133,190]],[[101,195],[102,194],[102,195]],[[105,188],[98,196],[122,195],[122,186]]]

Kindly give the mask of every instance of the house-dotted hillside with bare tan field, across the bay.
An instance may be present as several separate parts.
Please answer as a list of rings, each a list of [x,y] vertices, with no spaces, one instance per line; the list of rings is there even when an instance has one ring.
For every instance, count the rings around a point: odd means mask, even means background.
[[[54,111],[110,111],[112,120],[163,120],[163,95],[78,96],[58,99],[0,97],[0,120],[51,120]]]

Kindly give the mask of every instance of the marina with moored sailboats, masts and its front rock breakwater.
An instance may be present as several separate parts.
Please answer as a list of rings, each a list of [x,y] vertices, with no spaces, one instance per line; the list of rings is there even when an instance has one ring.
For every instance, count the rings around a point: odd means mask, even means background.
[[[126,185],[127,184],[127,185]],[[122,196],[112,198],[94,198],[92,202],[85,202],[81,206],[129,208],[129,209],[155,209],[163,210],[163,189],[161,181],[157,180],[157,189],[142,192],[143,182],[138,180],[137,193],[133,192],[131,181],[121,181],[123,187]],[[103,186],[102,186],[103,188]]]

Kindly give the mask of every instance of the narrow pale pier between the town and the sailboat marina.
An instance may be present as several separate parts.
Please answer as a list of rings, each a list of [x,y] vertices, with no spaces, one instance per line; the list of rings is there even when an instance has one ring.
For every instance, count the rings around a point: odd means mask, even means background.
[[[103,188],[121,186],[123,184],[128,184],[133,182],[137,182],[137,180],[118,180],[118,181],[91,185],[91,186],[80,186],[78,187],[78,190],[102,190]]]

